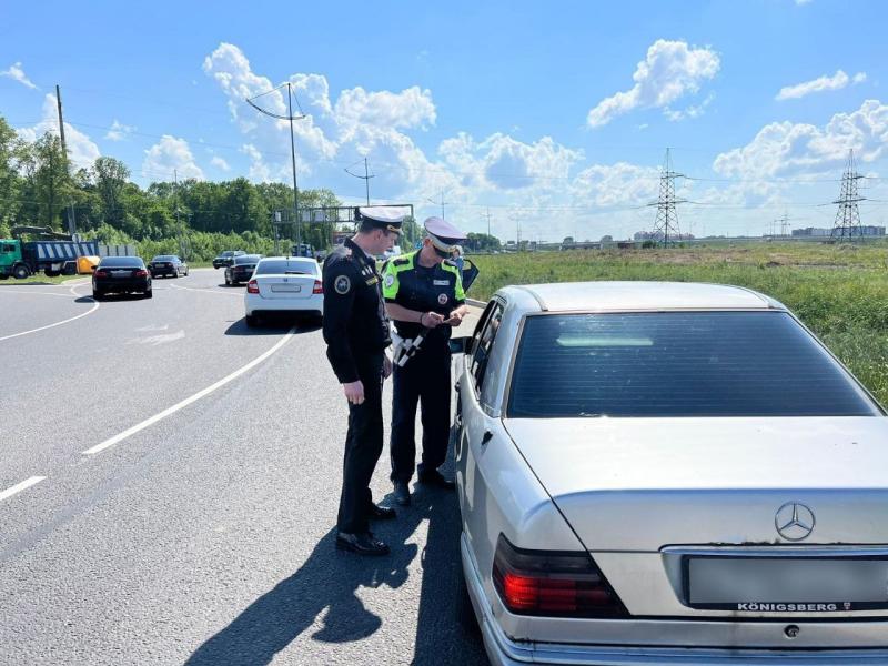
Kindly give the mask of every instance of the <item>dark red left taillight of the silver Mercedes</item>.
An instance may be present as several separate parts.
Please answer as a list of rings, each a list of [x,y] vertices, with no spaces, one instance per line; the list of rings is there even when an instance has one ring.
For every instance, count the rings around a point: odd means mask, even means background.
[[[525,551],[501,534],[493,582],[506,608],[518,615],[628,615],[588,553]]]

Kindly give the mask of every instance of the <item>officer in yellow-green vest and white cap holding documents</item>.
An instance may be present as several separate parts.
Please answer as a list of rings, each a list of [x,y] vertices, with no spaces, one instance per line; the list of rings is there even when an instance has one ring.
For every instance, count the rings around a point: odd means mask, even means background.
[[[395,502],[410,504],[416,457],[416,406],[422,404],[420,483],[453,488],[438,467],[447,456],[451,428],[451,327],[466,314],[462,273],[451,256],[465,234],[441,218],[425,221],[422,249],[390,260],[383,295],[395,324],[392,400],[392,483]]]

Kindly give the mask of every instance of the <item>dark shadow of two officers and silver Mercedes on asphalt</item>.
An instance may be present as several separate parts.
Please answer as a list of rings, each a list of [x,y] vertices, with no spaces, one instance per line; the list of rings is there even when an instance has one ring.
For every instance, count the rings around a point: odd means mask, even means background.
[[[385,458],[381,462],[385,464]],[[386,500],[383,504],[391,504],[391,495]],[[471,624],[461,622],[465,605],[455,493],[417,486],[412,506],[397,512],[395,521],[373,526],[392,547],[391,555],[364,558],[336,551],[335,528],[331,529],[295,574],[201,645],[186,666],[269,664],[322,614],[323,626],[312,635],[314,640],[347,643],[373,635],[383,619],[367,610],[355,593],[361,586],[398,588],[406,582],[407,566],[416,557],[416,544],[407,542],[423,521],[428,521],[428,538],[422,553],[413,664],[487,664],[480,635],[466,628]],[[405,660],[408,657],[404,655]]]

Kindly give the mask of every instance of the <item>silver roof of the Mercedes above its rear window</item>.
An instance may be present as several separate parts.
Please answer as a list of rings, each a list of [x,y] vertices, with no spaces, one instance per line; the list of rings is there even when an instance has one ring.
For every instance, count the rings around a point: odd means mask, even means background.
[[[514,306],[533,311],[786,310],[741,286],[699,282],[561,282],[507,286]]]

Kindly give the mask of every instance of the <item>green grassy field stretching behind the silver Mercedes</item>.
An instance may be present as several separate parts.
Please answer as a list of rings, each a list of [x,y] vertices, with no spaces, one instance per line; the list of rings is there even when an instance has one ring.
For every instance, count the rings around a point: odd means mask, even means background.
[[[506,284],[670,280],[747,286],[777,299],[888,405],[888,245],[756,243],[719,248],[588,250],[471,256],[468,294]]]

